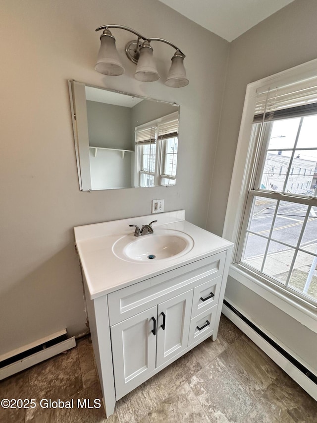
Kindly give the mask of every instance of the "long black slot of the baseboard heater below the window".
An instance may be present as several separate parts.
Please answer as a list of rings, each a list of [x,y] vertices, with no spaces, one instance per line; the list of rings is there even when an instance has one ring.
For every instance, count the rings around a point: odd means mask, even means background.
[[[312,373],[307,367],[302,363],[294,359],[287,351],[281,348],[276,342],[274,342],[269,336],[267,336],[261,329],[259,329],[254,323],[252,323],[247,317],[240,313],[236,308],[234,308],[229,302],[223,300],[224,305],[226,305],[229,310],[236,314],[241,320],[243,320],[248,326],[250,326],[258,335],[260,335],[268,344],[270,344],[276,351],[278,351],[283,357],[285,357],[290,363],[297,367],[302,373],[305,374],[312,382],[317,385],[317,375]]]

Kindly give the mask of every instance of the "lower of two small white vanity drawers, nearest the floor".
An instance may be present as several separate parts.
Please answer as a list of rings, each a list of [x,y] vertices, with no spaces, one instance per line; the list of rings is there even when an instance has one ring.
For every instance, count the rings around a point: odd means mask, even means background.
[[[188,346],[196,342],[199,343],[201,338],[208,338],[208,336],[212,335],[216,313],[217,304],[191,319]]]

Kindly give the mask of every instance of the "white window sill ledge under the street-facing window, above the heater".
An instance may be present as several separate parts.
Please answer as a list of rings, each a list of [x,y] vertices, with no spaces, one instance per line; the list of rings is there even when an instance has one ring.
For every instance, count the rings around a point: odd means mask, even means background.
[[[317,309],[314,306],[309,304],[306,306],[304,302],[295,301],[278,287],[263,282],[237,264],[230,265],[229,276],[317,333]]]

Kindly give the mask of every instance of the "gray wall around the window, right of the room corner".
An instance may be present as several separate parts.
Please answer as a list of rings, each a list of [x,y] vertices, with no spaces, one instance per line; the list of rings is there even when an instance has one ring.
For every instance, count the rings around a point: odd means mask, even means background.
[[[222,234],[246,86],[317,57],[317,1],[296,0],[233,41],[224,92],[207,228]],[[226,296],[313,368],[317,335],[229,278]],[[270,310],[270,311],[268,311]],[[274,324],[275,321],[275,324]],[[290,336],[290,328],[296,336]],[[297,330],[300,331],[300,339]],[[315,352],[315,359],[312,356]]]

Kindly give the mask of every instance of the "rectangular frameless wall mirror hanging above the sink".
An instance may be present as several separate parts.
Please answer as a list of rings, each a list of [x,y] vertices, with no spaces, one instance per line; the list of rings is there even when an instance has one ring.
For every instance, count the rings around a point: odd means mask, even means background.
[[[68,82],[82,191],[175,185],[177,104]]]

